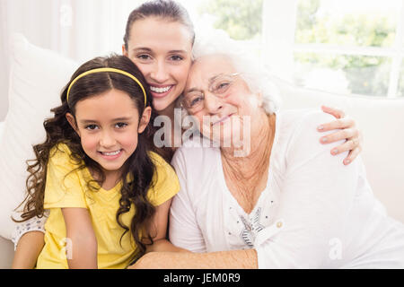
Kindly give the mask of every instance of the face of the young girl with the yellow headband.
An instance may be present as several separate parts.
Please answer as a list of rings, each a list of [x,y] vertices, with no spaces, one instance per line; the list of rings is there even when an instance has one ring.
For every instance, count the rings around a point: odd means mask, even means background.
[[[108,174],[119,171],[137,146],[137,134],[147,126],[151,108],[140,118],[134,101],[124,91],[110,90],[75,105],[67,120],[80,136],[83,151]]]

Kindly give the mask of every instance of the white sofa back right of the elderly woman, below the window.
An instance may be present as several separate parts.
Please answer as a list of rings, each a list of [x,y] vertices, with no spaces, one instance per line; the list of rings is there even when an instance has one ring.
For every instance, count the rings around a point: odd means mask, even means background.
[[[404,222],[404,98],[347,96],[274,81],[285,109],[329,105],[355,118],[364,135],[361,156],[373,193],[389,215]]]

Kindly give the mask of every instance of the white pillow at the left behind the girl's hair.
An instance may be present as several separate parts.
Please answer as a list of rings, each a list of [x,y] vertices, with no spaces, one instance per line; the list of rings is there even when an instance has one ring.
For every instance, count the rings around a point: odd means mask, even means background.
[[[32,144],[45,140],[43,121],[60,105],[60,92],[78,65],[57,53],[12,38],[9,109],[0,137],[0,236],[11,239],[13,210],[24,198]]]

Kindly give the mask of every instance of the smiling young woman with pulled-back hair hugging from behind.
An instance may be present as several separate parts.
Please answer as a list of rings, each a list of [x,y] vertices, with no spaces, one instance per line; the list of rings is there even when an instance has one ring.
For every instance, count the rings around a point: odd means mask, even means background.
[[[151,30],[153,33],[150,33]],[[171,126],[164,126],[171,131],[169,133],[171,138],[168,140],[171,147],[175,141],[174,107],[188,77],[194,39],[195,33],[187,11],[173,1],[147,2],[136,8],[127,19],[122,52],[145,75],[146,82],[151,86],[154,109],[159,115],[171,119]],[[322,129],[319,131],[344,128],[344,132],[322,136],[321,143],[346,139],[347,142],[341,143],[332,152],[341,154],[350,151],[344,160],[344,164],[349,164],[361,150],[355,122],[344,117],[343,112],[338,109],[325,108],[324,111],[334,115],[338,120],[321,125]],[[314,135],[314,138],[317,138],[317,135]],[[168,159],[174,150],[175,148],[172,148]],[[44,218],[33,219],[30,224],[30,229],[26,225],[20,226],[13,238],[14,244],[18,243],[14,267],[35,265],[36,257],[43,246]]]

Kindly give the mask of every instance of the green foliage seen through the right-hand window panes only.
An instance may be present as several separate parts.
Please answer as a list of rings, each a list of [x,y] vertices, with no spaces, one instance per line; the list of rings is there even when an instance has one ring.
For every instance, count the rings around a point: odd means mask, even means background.
[[[369,13],[336,17],[319,13],[321,0],[299,1],[295,30],[296,43],[324,43],[333,46],[391,47],[396,23],[388,15]],[[296,53],[296,62],[344,72],[353,93],[385,96],[388,91],[391,59],[370,56],[338,56]],[[403,79],[404,80],[404,79]]]

